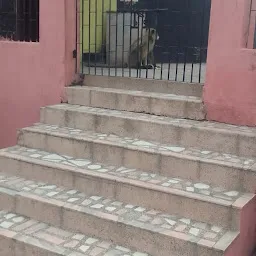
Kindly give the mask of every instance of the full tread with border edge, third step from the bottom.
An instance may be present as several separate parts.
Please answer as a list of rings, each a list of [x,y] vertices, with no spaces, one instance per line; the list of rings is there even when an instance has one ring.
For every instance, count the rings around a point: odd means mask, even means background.
[[[195,200],[206,201],[227,207],[242,208],[254,195],[235,190],[227,190],[222,187],[212,186],[207,183],[194,182],[177,177],[166,177],[154,172],[145,172],[137,169],[116,167],[90,159],[76,159],[71,156],[59,155],[42,150],[14,146],[0,150],[0,155],[30,161],[35,164],[49,165],[75,171],[80,174],[99,176],[103,179],[114,180],[124,184],[144,187],[149,190],[162,191],[164,193],[189,197]]]

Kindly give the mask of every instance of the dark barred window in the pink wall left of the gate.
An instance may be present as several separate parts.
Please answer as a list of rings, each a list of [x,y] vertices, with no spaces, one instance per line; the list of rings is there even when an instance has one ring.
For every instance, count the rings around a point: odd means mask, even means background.
[[[0,40],[39,41],[39,0],[0,0]]]

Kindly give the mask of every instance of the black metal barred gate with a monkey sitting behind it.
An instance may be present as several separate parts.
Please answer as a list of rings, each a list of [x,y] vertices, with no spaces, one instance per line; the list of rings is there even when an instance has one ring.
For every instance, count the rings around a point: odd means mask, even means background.
[[[81,72],[204,82],[211,0],[78,0]]]

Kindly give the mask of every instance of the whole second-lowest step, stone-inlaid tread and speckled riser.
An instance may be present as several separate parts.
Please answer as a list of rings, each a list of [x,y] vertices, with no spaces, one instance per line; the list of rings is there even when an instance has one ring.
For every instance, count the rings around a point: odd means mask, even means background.
[[[4,173],[0,184],[2,208],[73,234],[85,233],[155,256],[246,255],[243,247],[247,244],[237,231]],[[15,221],[7,218],[5,225],[8,223]]]

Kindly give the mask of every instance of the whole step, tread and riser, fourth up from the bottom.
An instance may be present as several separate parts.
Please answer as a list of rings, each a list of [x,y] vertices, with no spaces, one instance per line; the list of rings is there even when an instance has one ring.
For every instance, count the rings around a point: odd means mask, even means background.
[[[255,158],[45,124],[22,129],[18,144],[227,189],[255,192]]]

